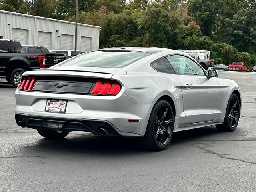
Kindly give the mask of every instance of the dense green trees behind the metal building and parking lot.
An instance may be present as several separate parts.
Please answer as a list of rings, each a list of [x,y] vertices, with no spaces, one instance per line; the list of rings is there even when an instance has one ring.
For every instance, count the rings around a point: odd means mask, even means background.
[[[76,0],[0,0],[0,10],[75,21]],[[223,64],[256,60],[255,0],[78,0],[78,22],[100,26],[100,47],[209,50]]]

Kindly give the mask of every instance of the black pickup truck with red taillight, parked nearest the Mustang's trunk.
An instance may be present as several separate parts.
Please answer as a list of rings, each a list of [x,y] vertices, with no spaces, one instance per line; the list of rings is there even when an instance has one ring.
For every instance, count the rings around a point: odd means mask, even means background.
[[[19,41],[0,39],[0,78],[5,78],[14,87],[20,84],[20,77],[25,71],[45,69],[64,60],[65,54],[49,51],[24,53]]]

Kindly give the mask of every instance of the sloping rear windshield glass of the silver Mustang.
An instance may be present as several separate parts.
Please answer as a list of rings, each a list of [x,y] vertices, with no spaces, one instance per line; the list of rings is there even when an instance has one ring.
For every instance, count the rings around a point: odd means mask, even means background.
[[[138,51],[93,51],[67,60],[61,66],[118,68],[149,55],[150,53]]]

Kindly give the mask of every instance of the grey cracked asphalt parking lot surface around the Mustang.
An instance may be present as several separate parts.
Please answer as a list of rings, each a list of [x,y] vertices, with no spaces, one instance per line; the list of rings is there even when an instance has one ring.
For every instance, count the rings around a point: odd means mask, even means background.
[[[16,125],[15,89],[0,80],[0,191],[255,192],[256,73],[219,75],[241,88],[237,129],[174,133],[161,152],[144,150],[136,139],[83,132],[46,140]]]

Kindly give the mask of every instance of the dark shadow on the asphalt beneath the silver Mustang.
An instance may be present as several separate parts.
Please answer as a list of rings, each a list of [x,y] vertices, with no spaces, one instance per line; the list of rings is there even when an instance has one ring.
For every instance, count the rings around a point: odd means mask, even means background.
[[[170,146],[166,152],[180,145],[191,144],[196,140],[207,140],[209,137],[224,134],[218,132],[215,126],[198,128],[176,132],[173,134]],[[94,136],[93,134],[83,134],[80,132],[70,133],[62,140],[48,140],[41,138],[33,148],[33,152],[50,153],[77,153],[80,154],[130,154],[151,152],[144,146],[142,138],[123,138],[115,136]],[[26,148],[26,147],[25,147]]]

